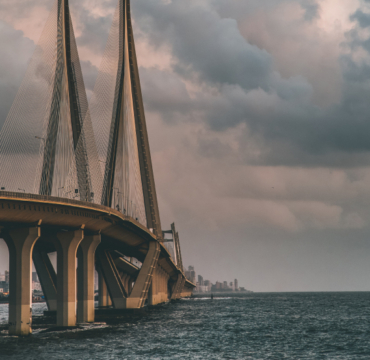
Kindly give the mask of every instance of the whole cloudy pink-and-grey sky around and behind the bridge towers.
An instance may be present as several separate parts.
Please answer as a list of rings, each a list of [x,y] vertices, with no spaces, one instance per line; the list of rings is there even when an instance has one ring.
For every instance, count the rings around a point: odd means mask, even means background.
[[[185,264],[254,291],[369,291],[370,1],[131,2]],[[116,4],[70,0],[88,94]],[[0,0],[0,125],[52,5]]]

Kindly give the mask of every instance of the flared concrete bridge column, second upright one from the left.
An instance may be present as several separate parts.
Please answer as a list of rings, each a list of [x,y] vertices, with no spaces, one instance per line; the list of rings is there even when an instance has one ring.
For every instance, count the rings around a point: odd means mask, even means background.
[[[56,234],[57,325],[76,325],[76,254],[83,230]]]

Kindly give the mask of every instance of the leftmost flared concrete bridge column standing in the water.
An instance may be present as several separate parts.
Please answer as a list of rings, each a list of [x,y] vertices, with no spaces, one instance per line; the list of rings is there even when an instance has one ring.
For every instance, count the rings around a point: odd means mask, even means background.
[[[9,249],[9,335],[29,335],[31,329],[31,266],[40,228],[2,234]]]

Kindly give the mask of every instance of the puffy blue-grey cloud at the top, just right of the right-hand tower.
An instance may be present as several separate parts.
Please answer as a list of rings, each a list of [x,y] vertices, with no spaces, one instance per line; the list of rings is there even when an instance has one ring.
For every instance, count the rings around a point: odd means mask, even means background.
[[[270,55],[247,43],[235,20],[221,19],[194,1],[177,0],[167,5],[137,1],[133,6],[139,21],[148,22],[151,41],[171,44],[180,74],[197,74],[204,81],[239,84],[244,89],[267,87]]]

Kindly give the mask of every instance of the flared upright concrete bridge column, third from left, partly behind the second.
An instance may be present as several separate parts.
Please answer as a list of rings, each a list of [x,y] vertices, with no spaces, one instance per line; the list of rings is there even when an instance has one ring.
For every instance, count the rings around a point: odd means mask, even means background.
[[[77,251],[77,322],[94,322],[94,271],[95,250],[100,244],[100,235],[85,236]]]

